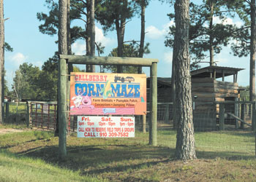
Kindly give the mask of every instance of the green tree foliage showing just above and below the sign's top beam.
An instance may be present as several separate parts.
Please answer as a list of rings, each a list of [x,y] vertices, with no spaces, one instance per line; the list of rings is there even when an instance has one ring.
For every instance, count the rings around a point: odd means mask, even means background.
[[[139,50],[140,47],[133,41],[131,44],[124,44],[123,55],[127,58],[139,58]],[[114,48],[108,56],[117,57],[118,48]],[[144,47],[144,54],[149,54],[149,43]],[[103,71],[111,71],[112,73],[116,73],[116,66],[103,66]],[[124,73],[126,74],[137,74],[138,67],[136,66],[124,66]]]

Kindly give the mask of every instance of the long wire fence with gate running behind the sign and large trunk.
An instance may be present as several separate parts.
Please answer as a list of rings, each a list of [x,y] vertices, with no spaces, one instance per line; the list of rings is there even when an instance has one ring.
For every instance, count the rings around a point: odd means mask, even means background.
[[[29,111],[31,127],[56,130],[56,103],[30,102],[29,104],[8,103],[8,105],[9,108],[5,106],[6,121],[25,123],[26,113]],[[173,103],[158,103],[157,105],[157,144],[172,149],[176,147],[176,124],[173,124],[174,108]],[[222,127],[221,122],[223,108],[225,127]],[[145,145],[148,144],[148,130],[151,122],[149,109],[148,106],[146,121],[143,122],[143,116],[135,116],[135,138]],[[254,110],[255,104],[249,102],[193,103],[197,152],[213,152],[224,156],[255,155],[255,126],[252,122]],[[67,130],[77,132],[78,116],[67,114],[67,117],[69,118]],[[118,138],[118,140],[124,139]]]

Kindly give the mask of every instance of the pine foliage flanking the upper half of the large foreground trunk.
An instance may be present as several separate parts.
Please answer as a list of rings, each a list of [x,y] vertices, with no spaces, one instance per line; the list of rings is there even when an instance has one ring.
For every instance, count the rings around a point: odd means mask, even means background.
[[[232,5],[233,4],[233,5]],[[213,11],[211,11],[211,5]],[[237,30],[235,25],[227,25],[216,23],[211,25],[212,17],[219,17],[225,21],[227,16],[233,17],[235,13],[230,6],[236,7],[233,1],[203,1],[203,4],[189,4],[190,26],[189,26],[189,52],[192,56],[191,69],[198,68],[197,63],[205,60],[211,47],[214,48],[214,53],[219,54],[222,46],[230,44],[233,38],[233,31]],[[169,14],[170,20],[175,17],[174,14]],[[165,40],[166,47],[173,47],[174,44],[175,25],[170,27],[170,31]],[[212,41],[211,41],[212,40]]]

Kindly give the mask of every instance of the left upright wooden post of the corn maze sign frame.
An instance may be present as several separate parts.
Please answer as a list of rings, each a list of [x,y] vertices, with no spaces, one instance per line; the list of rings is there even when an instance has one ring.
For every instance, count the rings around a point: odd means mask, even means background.
[[[59,158],[67,157],[67,68],[66,60],[59,60]]]

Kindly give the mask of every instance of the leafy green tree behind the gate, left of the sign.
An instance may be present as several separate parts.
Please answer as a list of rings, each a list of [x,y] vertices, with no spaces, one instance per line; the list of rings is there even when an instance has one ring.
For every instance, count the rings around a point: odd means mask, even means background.
[[[54,68],[54,58],[45,64],[48,66],[42,66],[42,71],[31,63],[23,63],[15,71],[12,88],[19,100],[56,100],[58,70]]]

